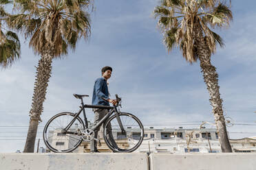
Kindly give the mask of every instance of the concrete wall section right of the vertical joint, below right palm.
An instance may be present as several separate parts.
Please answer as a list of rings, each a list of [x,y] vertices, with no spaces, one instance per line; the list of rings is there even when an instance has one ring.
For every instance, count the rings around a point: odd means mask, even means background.
[[[151,170],[255,170],[256,154],[151,154]]]

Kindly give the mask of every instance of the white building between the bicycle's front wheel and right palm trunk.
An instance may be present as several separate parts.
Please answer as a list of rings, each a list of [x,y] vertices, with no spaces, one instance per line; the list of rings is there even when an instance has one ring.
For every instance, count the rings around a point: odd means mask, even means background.
[[[183,129],[182,127],[145,130],[145,137],[136,152],[217,153],[221,152],[215,129]]]

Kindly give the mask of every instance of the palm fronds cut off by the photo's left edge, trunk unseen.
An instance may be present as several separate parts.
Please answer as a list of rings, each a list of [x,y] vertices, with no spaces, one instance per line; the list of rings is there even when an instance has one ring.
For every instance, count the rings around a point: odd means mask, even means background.
[[[8,0],[0,1],[0,66],[6,68],[10,66],[14,60],[17,60],[21,56],[21,44],[17,34],[7,30],[3,32],[3,27],[6,25],[6,20],[10,16],[8,12],[4,10],[4,5],[12,3]]]

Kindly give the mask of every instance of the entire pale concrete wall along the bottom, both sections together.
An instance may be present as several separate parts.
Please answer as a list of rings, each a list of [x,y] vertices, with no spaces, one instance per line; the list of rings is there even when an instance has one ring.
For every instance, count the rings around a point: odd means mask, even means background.
[[[256,154],[0,154],[0,170],[255,170]]]

